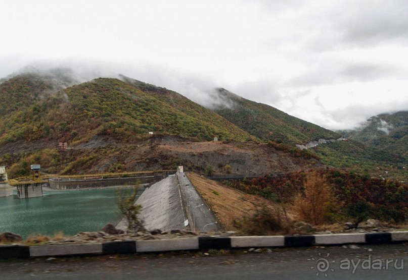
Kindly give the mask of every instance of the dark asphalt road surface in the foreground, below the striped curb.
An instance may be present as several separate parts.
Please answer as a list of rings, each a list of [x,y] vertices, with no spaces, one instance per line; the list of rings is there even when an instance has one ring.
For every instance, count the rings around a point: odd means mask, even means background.
[[[2,260],[0,277],[86,280],[408,278],[408,244],[358,247],[282,248],[269,252],[263,249],[261,253],[210,250],[209,256],[204,256],[204,252],[178,252]],[[348,269],[347,263],[350,264]]]

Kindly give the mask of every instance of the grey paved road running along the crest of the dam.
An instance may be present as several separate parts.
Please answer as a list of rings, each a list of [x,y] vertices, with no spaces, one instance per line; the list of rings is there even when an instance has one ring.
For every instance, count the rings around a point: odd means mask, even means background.
[[[197,232],[218,231],[219,227],[216,223],[217,219],[191,184],[185,173],[180,173],[180,179],[182,181],[182,195],[186,202],[186,211],[188,212],[191,223],[191,230]]]

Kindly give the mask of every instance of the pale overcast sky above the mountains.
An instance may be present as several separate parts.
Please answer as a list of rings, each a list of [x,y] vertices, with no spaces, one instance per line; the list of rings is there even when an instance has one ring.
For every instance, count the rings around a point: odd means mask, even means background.
[[[4,0],[0,25],[0,77],[71,65],[202,104],[223,87],[329,129],[408,109],[406,0]]]

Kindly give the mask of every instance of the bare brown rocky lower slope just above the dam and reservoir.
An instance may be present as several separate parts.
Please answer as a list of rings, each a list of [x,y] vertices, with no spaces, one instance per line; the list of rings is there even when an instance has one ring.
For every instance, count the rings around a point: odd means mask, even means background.
[[[43,143],[31,143],[33,150]],[[7,149],[2,148],[4,151]],[[303,156],[303,157],[302,157]],[[0,155],[11,178],[29,171],[29,163],[41,164],[42,173],[86,174],[137,170],[176,169],[205,174],[211,165],[215,174],[282,174],[307,168],[322,168],[318,159],[304,153],[293,155],[257,142],[191,142],[176,137],[155,136],[137,143],[118,144],[109,137],[93,139],[65,151],[42,149]],[[231,166],[228,170],[226,165]]]

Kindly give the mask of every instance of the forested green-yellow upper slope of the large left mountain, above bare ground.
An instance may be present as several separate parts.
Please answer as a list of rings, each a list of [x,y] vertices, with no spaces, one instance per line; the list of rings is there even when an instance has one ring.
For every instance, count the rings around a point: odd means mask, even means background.
[[[96,135],[128,142],[148,138],[149,132],[192,140],[211,140],[214,136],[221,140],[254,139],[185,97],[180,97],[183,102],[169,104],[165,89],[163,94],[152,94],[118,79],[99,78],[48,94],[53,87],[41,77],[34,79],[34,84],[28,83],[31,87],[23,84],[18,88],[20,79],[0,84],[0,96],[8,96],[0,106],[11,108],[3,112],[2,144],[21,139],[78,144]]]

